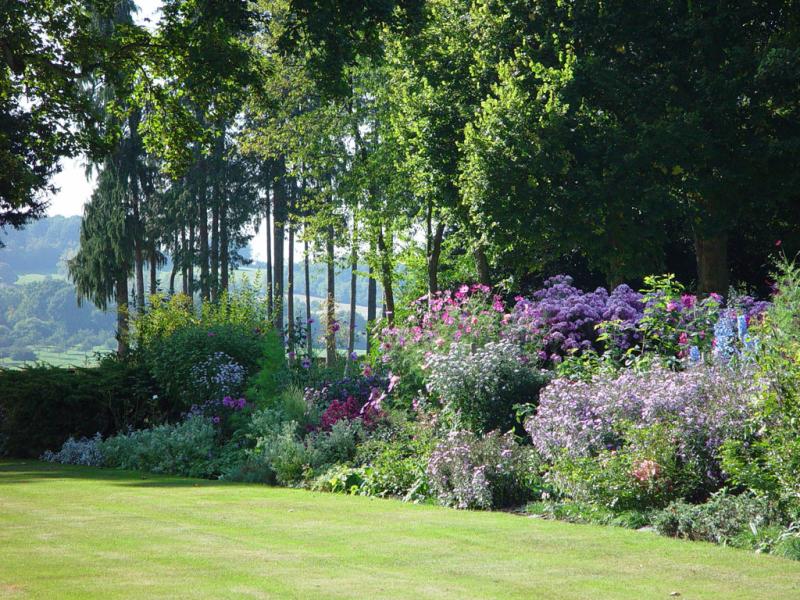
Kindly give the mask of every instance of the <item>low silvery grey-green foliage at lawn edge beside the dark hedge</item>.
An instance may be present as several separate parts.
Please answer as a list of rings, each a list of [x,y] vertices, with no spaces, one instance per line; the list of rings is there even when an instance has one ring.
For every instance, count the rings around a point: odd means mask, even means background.
[[[224,468],[217,431],[203,417],[110,437],[100,444],[110,467],[210,478]]]

